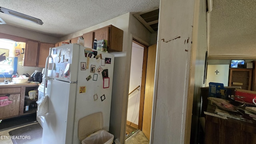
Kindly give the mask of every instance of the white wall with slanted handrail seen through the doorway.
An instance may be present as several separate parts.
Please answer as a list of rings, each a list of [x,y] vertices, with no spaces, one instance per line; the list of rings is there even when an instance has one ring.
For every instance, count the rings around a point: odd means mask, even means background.
[[[141,86],[143,55],[144,48],[133,42],[129,93],[137,86]],[[128,96],[127,120],[137,125],[139,122],[140,92],[141,88],[138,88]]]

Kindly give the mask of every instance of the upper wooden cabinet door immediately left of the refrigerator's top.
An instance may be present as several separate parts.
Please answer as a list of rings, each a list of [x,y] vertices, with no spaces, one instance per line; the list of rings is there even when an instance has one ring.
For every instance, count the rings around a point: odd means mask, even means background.
[[[38,58],[38,67],[44,68],[46,58],[49,55],[50,48],[53,48],[54,44],[48,44],[41,42],[39,48],[39,58]]]

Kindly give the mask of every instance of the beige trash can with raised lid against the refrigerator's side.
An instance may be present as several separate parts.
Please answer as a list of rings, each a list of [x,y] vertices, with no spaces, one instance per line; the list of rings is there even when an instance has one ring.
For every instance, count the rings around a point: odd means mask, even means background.
[[[78,121],[78,138],[82,144],[112,144],[114,135],[102,130],[102,112],[85,116]]]

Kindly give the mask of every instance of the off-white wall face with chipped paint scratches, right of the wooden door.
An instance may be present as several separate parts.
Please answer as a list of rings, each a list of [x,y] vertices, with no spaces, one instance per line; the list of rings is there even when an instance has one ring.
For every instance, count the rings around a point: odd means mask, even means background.
[[[160,0],[151,144],[184,143],[193,18],[194,0]]]

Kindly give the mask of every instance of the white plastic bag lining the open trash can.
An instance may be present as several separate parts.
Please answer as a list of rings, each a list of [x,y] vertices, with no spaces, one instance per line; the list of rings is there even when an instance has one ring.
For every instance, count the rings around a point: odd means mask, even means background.
[[[82,140],[82,144],[112,144],[114,135],[106,130],[99,130]]]

